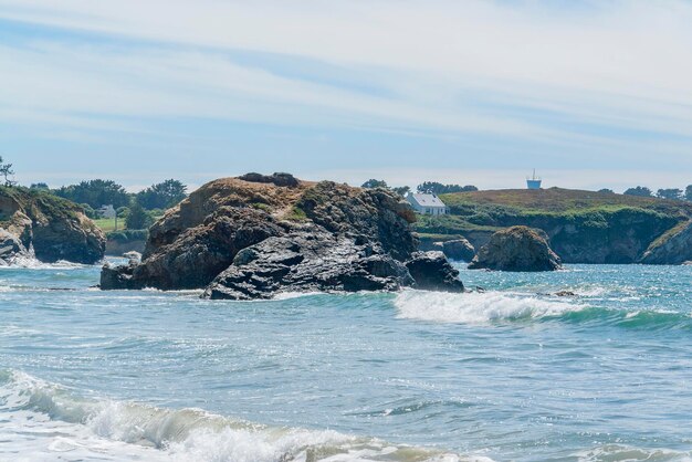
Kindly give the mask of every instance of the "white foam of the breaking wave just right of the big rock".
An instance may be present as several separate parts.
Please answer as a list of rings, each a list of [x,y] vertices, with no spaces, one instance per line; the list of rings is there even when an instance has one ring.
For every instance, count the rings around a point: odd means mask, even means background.
[[[575,301],[502,292],[449,294],[410,290],[399,293],[395,305],[402,318],[474,325],[558,316],[586,307]]]

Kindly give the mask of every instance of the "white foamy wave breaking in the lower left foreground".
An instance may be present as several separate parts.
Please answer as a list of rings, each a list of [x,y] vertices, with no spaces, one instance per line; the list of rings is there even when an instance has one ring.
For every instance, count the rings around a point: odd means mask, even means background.
[[[489,461],[199,409],[87,400],[18,371],[0,371],[0,460],[15,461]]]

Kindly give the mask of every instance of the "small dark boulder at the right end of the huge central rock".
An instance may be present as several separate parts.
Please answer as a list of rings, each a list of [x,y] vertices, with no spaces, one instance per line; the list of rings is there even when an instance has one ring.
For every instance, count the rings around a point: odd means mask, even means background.
[[[423,291],[463,292],[463,283],[442,252],[417,252],[406,262],[415,287]]]

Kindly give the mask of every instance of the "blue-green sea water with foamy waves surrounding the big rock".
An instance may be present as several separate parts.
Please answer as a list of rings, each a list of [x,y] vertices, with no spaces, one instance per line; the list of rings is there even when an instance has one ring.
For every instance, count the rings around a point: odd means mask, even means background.
[[[0,461],[692,459],[692,266],[242,303],[34,266],[0,269]]]

